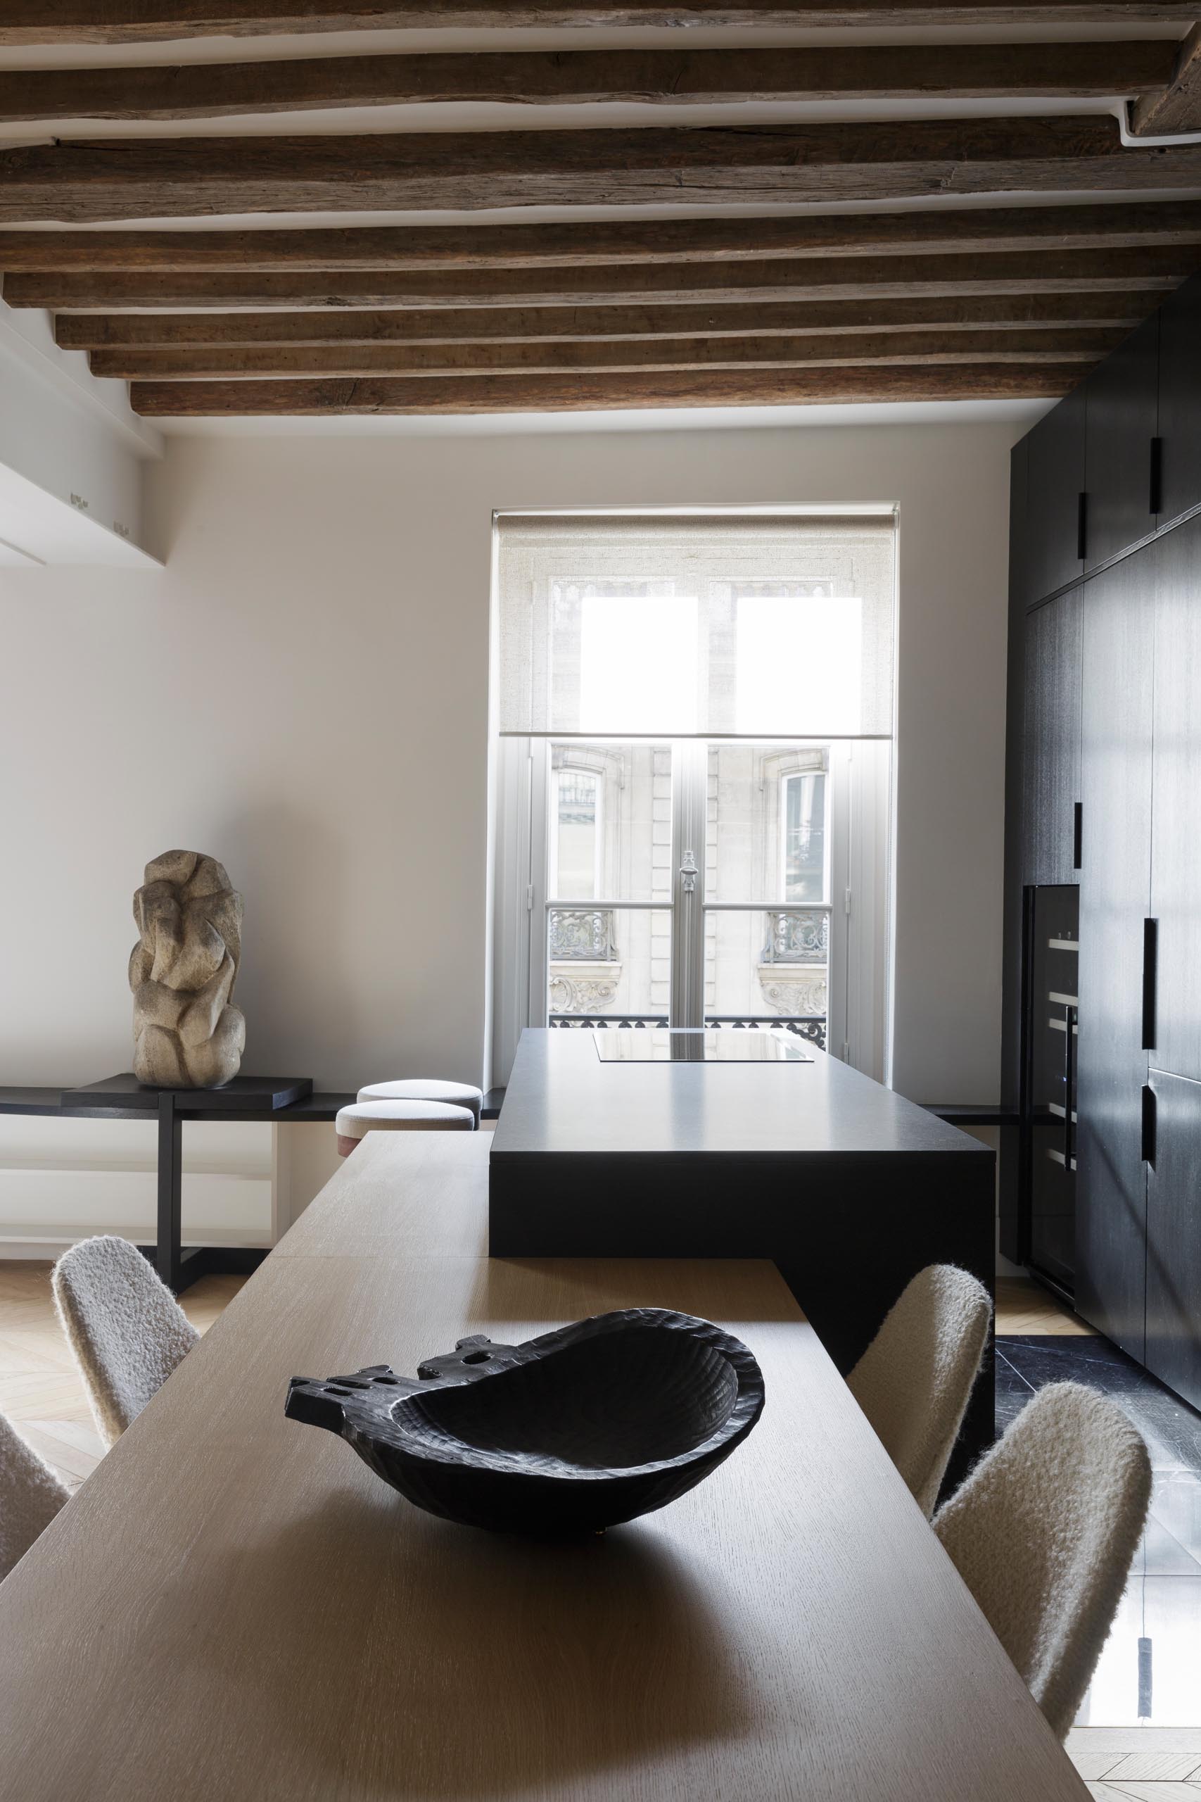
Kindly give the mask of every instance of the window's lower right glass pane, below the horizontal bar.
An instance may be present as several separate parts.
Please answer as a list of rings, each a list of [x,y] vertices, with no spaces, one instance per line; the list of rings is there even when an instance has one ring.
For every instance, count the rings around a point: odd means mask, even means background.
[[[787,1025],[825,1049],[828,933],[825,908],[706,914],[706,1024]]]

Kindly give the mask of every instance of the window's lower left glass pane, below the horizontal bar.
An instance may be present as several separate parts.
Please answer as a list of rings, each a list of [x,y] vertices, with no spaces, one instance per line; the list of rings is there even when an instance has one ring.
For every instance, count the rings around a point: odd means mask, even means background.
[[[547,908],[547,1018],[668,1022],[668,908]]]

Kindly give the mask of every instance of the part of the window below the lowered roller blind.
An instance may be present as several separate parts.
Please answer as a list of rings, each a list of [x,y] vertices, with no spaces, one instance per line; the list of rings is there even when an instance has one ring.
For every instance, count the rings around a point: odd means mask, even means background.
[[[880,746],[571,737],[501,751],[497,1081],[522,1025],[772,1024],[877,1072],[877,1034],[852,1045],[873,1015],[852,950],[857,926],[882,926],[884,858],[868,856],[859,896],[852,876],[855,827],[870,836],[888,815]],[[875,984],[882,960],[868,966]]]

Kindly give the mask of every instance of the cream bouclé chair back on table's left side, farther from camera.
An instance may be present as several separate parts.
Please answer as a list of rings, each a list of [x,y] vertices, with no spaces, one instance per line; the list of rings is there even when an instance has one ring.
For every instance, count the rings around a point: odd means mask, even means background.
[[[54,1267],[54,1303],[95,1425],[113,1445],[200,1333],[137,1245],[81,1240]]]

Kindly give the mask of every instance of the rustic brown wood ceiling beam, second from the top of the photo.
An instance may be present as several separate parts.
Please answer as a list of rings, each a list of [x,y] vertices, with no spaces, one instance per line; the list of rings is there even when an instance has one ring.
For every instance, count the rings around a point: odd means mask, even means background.
[[[173,68],[0,72],[0,121],[221,119],[427,101],[553,103],[1008,99],[1167,88],[1176,43],[839,45],[293,58]]]

